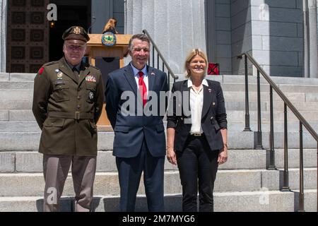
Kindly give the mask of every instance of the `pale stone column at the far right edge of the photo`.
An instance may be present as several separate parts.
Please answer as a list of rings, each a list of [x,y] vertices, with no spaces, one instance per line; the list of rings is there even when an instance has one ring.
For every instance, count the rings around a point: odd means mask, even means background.
[[[305,77],[318,78],[317,0],[303,1],[305,5]]]

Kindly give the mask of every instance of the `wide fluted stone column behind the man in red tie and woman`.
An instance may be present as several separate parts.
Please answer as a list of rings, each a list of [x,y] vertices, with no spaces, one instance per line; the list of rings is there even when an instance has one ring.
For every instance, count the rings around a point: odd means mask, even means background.
[[[204,0],[126,0],[125,33],[148,30],[174,73],[196,47],[206,52]]]

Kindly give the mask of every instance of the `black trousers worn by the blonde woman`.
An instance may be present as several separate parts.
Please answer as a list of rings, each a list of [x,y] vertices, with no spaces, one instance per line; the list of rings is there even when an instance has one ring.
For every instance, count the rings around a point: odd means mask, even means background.
[[[189,135],[182,152],[177,152],[182,184],[182,210],[196,212],[199,187],[199,211],[213,212],[213,189],[218,171],[218,150],[211,150],[206,137]]]

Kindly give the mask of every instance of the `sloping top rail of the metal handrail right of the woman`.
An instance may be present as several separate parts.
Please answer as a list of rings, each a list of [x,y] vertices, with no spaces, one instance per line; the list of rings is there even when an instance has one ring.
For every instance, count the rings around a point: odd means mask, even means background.
[[[261,73],[262,76],[264,76],[264,78],[266,79],[266,81],[269,83],[269,85],[271,85],[273,87],[273,90],[276,91],[276,93],[281,97],[281,99],[283,100],[283,102],[285,102],[285,104],[289,107],[289,109],[295,114],[296,117],[298,117],[298,119],[301,121],[302,125],[305,126],[305,128],[307,129],[308,132],[310,132],[310,134],[312,135],[312,137],[318,142],[318,134],[316,133],[316,131],[314,131],[314,129],[312,129],[312,126],[310,126],[310,124],[308,124],[308,122],[306,121],[306,119],[304,117],[302,117],[302,115],[300,114],[300,112],[298,112],[298,109],[296,109],[294,107],[294,105],[288,100],[288,98],[283,94],[283,92],[278,88],[278,86],[276,85],[276,83],[274,83],[270,76],[267,75],[267,73],[261,68],[261,66],[259,66],[259,64],[257,63],[257,61],[255,61],[255,59],[249,55],[248,53],[244,53],[244,54],[240,54],[237,57],[242,57],[242,56],[247,56],[247,58],[249,59],[249,61],[252,62],[252,64],[254,64],[254,66],[257,68],[257,70],[259,70],[259,72]]]

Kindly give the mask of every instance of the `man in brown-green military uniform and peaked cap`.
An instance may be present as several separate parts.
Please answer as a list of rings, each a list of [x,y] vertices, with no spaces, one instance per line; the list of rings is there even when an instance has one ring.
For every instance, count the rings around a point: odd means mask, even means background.
[[[82,62],[89,37],[81,27],[67,29],[64,57],[47,63],[35,76],[33,114],[42,130],[44,210],[58,211],[69,168],[75,210],[90,211],[93,200],[98,132],[104,100],[99,69]]]

